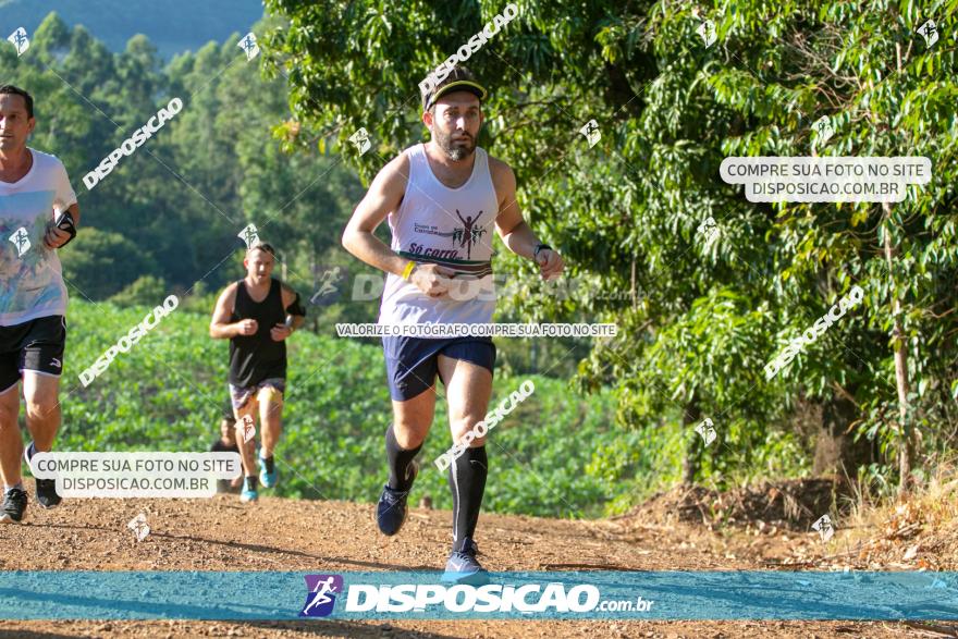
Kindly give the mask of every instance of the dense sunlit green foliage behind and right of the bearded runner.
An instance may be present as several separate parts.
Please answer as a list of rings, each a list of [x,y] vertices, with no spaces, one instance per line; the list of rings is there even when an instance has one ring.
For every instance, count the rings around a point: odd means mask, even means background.
[[[894,480],[905,428],[920,435],[919,475],[948,454],[958,3],[515,3],[518,16],[468,62],[491,89],[480,144],[515,168],[520,205],[570,274],[594,281],[557,300],[529,278],[513,310],[623,331],[593,349],[581,385],[613,385],[623,426],[674,427],[680,415],[688,479],[752,467],[757,446],[809,415],[839,440],[832,464],[819,446],[822,469]],[[417,83],[503,7],[268,0],[287,21],[269,54],[303,128],[331,136],[368,177],[421,138]],[[916,33],[929,17],[941,35],[931,48]],[[711,47],[697,34],[704,19]],[[720,179],[727,156],[810,155],[821,116],[835,135],[820,153],[926,156],[932,182],[885,208],[753,205]],[[602,135],[591,149],[579,134],[590,119]],[[361,158],[347,144],[359,126],[377,150]],[[710,217],[714,237],[698,231]],[[532,272],[506,255],[496,266]],[[863,305],[767,382],[764,364],[852,284]],[[691,428],[703,417],[721,440],[697,474]],[[846,433],[865,450],[851,454]]]

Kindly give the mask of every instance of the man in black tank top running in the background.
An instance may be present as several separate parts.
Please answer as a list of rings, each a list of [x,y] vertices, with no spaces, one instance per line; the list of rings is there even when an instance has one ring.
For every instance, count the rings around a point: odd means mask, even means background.
[[[230,340],[230,397],[236,415],[236,445],[246,476],[240,500],[258,496],[254,452],[256,439],[247,441],[248,425],[259,416],[261,447],[259,481],[277,484],[273,450],[282,428],[283,391],[286,385],[286,337],[303,325],[306,310],[299,294],[271,277],[275,249],[257,244],[246,251],[246,278],[226,286],[217,300],[210,336]],[[244,419],[245,418],[245,419]]]

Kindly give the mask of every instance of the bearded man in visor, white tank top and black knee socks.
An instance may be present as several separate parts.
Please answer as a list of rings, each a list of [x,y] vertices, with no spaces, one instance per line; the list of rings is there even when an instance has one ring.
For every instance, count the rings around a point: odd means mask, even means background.
[[[343,233],[353,255],[389,273],[380,323],[487,323],[495,307],[492,235],[533,259],[543,279],[563,269],[516,204],[512,169],[476,146],[486,89],[458,66],[422,96],[422,122],[432,139],[406,149],[376,176]],[[389,218],[392,245],[374,235]],[[464,287],[462,283],[467,284]],[[495,346],[489,337],[383,337],[393,425],[385,433],[390,478],[377,505],[384,534],[400,531],[418,466],[416,454],[432,426],[435,376],[446,389],[450,429],[458,443],[486,418]],[[446,581],[482,582],[472,539],[486,489],[484,438],[450,465],[453,548]]]

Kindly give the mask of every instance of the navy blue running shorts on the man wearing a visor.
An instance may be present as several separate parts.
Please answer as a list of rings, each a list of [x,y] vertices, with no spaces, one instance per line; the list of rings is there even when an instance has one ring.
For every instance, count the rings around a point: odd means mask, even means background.
[[[439,356],[463,359],[492,372],[495,345],[492,337],[430,340],[409,336],[382,339],[390,396],[396,402],[412,400],[435,383]],[[445,383],[445,380],[443,380]]]

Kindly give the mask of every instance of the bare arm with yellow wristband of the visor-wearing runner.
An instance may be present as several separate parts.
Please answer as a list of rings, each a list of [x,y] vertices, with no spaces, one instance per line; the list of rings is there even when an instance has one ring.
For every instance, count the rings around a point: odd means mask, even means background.
[[[390,212],[400,207],[406,193],[409,176],[409,158],[406,153],[382,168],[366,197],[353,211],[343,231],[343,247],[366,263],[382,271],[402,275],[409,260],[397,256],[373,233]]]

